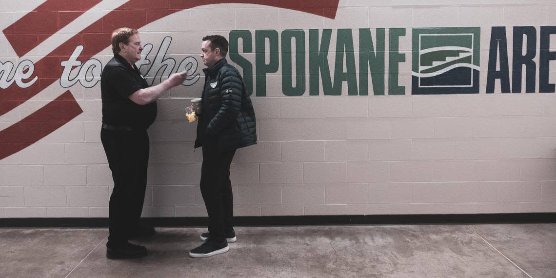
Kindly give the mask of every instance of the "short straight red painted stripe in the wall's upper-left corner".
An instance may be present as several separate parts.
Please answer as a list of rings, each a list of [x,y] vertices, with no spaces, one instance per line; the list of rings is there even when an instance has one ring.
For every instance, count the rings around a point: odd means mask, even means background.
[[[17,55],[22,57],[101,1],[48,0],[2,32]]]

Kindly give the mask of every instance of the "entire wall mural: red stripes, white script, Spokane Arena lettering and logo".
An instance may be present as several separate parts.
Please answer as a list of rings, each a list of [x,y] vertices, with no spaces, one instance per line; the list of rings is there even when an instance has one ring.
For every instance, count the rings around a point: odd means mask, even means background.
[[[18,57],[24,57],[100,2],[64,2],[59,7],[58,1],[46,1],[4,29],[4,36]],[[139,29],[172,13],[206,4],[201,2],[169,0],[166,4],[169,8],[152,9],[148,1],[131,0],[62,42],[37,62],[0,61],[0,116],[54,82],[59,82],[62,88],[100,86],[103,64],[93,56],[110,45],[107,37],[113,29],[122,26]],[[212,4],[264,4],[332,19],[339,3],[338,0],[285,2],[211,1]],[[57,14],[59,11],[65,11],[63,16]],[[409,32],[412,32],[412,54],[400,49],[400,39]],[[508,32],[513,32],[512,42],[508,42]],[[502,93],[553,93],[556,89],[549,82],[549,62],[556,60],[556,51],[550,51],[550,36],[554,34],[556,26],[492,27],[488,64],[483,65],[480,64],[480,27],[389,28],[388,37],[385,28],[231,30],[229,41],[230,59],[244,73],[249,93],[257,97],[266,96],[266,78],[272,73],[281,74],[284,96],[339,96],[344,83],[347,85],[344,95],[348,96],[494,93],[495,83],[499,83]],[[137,66],[151,84],[183,69],[190,72],[183,85],[195,84],[201,78],[198,58],[189,56],[176,61],[167,57],[171,43],[171,36],[160,42],[146,42]],[[246,54],[254,54],[254,61],[246,58]],[[509,55],[513,57],[511,65]],[[537,56],[538,64],[534,61]],[[411,88],[399,85],[399,65],[408,59],[411,59]],[[479,92],[481,70],[486,71],[484,92]],[[71,92],[62,93],[0,131],[0,159],[41,140],[82,112]]]

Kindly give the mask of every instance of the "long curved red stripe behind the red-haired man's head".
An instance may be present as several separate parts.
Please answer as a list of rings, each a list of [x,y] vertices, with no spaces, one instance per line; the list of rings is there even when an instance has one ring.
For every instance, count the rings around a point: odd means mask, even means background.
[[[99,19],[97,22],[91,24],[91,26],[83,29],[80,33],[76,34],[72,38],[68,39],[66,42],[62,43],[61,46],[54,49],[48,56],[42,58],[34,64],[35,72],[34,76],[39,77],[39,82],[29,88],[20,88],[15,85],[3,90],[0,94],[0,115],[11,111],[13,108],[17,107],[18,103],[29,100],[29,98],[37,95],[44,88],[51,85],[56,78],[62,75],[61,61],[69,58],[69,55],[73,52],[76,46],[83,44],[83,41],[87,41],[85,48],[83,49],[82,55],[79,57],[81,62],[87,61],[96,53],[102,51],[102,49],[110,46],[110,36],[114,29],[127,26],[131,28],[141,28],[148,23],[156,21],[157,19],[168,16],[180,11],[181,9],[193,8],[196,6],[201,6],[210,2],[210,4],[215,3],[251,3],[251,4],[265,4],[267,6],[284,7],[296,9],[297,11],[306,11],[320,16],[331,16],[332,13],[336,14],[337,4],[339,0],[306,0],[306,1],[296,1],[294,3],[282,3],[286,1],[279,0],[211,0],[211,1],[178,1],[178,0],[168,0],[170,8],[172,9],[155,9],[152,10],[151,1],[146,0],[131,0],[126,4],[114,9],[112,12],[106,14],[103,18]],[[289,2],[289,1],[288,1]],[[131,9],[134,8],[134,9]],[[333,12],[332,12],[333,11]],[[148,12],[148,16],[147,16]],[[102,33],[95,33],[93,31],[97,30],[99,26],[102,26]],[[87,39],[93,36],[94,39]],[[95,43],[90,43],[94,41]],[[9,101],[9,102],[6,102]]]

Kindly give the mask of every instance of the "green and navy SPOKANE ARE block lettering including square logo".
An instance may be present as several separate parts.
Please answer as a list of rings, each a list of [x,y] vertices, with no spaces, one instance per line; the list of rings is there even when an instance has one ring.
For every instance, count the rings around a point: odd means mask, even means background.
[[[400,63],[407,58],[399,47],[405,28],[388,30],[388,49],[384,28],[376,28],[374,34],[371,29],[310,29],[308,36],[301,29],[280,32],[256,30],[255,37],[247,30],[230,32],[230,58],[243,69],[247,90],[256,96],[266,96],[267,76],[278,73],[280,67],[285,96],[385,95],[387,76],[388,95],[406,94],[399,85]],[[512,86],[506,27],[492,27],[485,93],[494,93],[497,83],[502,93],[522,92],[523,67],[525,92],[535,92],[537,73],[539,92],[555,92],[549,74],[550,61],[556,60],[556,52],[550,51],[556,26],[540,27],[539,46],[537,28],[513,27],[513,32]],[[334,35],[335,47],[331,45]],[[413,28],[411,94],[479,93],[480,35],[480,27]],[[359,44],[354,43],[355,36]],[[250,53],[255,54],[254,63],[247,58]],[[344,85],[347,90],[342,90]]]

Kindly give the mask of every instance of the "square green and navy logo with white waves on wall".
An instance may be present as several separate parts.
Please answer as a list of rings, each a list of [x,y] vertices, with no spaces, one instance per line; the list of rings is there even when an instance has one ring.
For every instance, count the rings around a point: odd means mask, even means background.
[[[479,93],[480,32],[414,28],[411,94]]]

